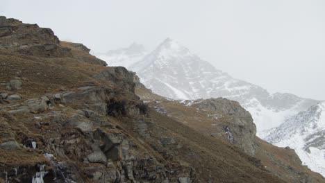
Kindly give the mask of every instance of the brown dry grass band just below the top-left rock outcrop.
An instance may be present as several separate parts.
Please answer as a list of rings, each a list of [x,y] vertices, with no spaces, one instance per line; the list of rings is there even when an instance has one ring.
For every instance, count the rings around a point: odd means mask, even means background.
[[[26,78],[23,80],[23,89],[17,91],[17,94],[26,98],[90,85],[89,82],[99,85],[90,76],[103,69],[106,67],[78,62],[72,58],[38,58],[15,53],[0,56],[0,81],[8,82],[17,76]],[[4,87],[1,90],[10,92]]]

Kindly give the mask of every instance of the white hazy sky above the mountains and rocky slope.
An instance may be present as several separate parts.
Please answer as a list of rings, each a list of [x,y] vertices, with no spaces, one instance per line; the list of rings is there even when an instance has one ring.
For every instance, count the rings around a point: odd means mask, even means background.
[[[269,92],[325,99],[324,0],[1,0],[0,15],[95,52],[172,37]]]

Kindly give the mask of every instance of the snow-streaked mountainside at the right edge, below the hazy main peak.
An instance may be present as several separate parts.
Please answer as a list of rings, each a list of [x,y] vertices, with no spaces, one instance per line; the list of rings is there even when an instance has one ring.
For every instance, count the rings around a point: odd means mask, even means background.
[[[265,139],[276,146],[294,148],[303,164],[325,176],[325,102],[269,130]]]

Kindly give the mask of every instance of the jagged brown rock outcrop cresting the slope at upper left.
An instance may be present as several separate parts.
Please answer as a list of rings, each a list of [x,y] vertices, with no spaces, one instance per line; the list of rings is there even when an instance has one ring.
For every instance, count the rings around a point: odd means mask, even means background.
[[[44,58],[75,58],[106,66],[106,62],[89,55],[90,49],[83,44],[60,42],[50,28],[37,24],[24,24],[17,19],[0,17],[0,50],[13,50],[23,55]]]

